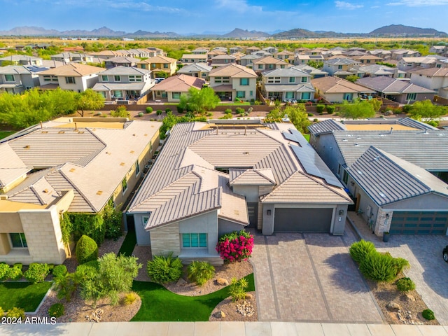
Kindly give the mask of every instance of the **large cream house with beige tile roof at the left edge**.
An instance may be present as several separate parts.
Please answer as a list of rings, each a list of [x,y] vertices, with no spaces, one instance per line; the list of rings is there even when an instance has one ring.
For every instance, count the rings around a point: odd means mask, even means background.
[[[0,260],[61,264],[64,212],[121,206],[159,144],[161,123],[62,118],[0,143]]]

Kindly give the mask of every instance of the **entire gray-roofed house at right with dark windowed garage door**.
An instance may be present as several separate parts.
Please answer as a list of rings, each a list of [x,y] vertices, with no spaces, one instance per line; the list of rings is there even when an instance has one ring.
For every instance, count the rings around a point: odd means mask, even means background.
[[[325,120],[309,130],[311,146],[377,235],[447,234],[447,130],[410,118]]]

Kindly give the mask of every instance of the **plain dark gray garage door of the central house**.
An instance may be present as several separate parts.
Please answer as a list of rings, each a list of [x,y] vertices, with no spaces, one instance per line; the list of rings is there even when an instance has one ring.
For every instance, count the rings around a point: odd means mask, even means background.
[[[274,232],[330,232],[333,209],[275,208]]]

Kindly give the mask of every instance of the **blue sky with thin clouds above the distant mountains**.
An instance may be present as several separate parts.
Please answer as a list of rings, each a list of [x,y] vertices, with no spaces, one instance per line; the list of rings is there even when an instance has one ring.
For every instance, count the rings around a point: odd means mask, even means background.
[[[20,26],[134,32],[293,28],[367,33],[384,25],[448,32],[448,0],[0,0],[0,30]]]

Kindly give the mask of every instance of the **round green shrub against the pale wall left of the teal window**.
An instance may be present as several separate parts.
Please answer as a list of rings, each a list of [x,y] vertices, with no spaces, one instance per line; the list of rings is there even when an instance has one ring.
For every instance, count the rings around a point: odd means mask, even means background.
[[[148,276],[158,283],[178,281],[182,276],[182,262],[179,258],[174,258],[173,253],[167,257],[155,255],[153,260],[148,260],[146,269]]]

